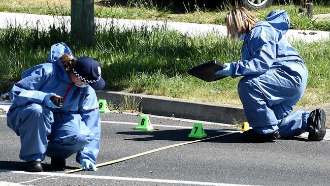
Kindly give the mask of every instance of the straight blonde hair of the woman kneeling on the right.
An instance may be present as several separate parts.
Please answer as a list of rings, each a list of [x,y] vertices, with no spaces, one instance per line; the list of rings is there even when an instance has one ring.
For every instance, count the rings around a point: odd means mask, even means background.
[[[227,37],[235,38],[235,34],[240,37],[243,33],[250,31],[254,24],[259,22],[256,18],[244,7],[237,7],[226,15]]]

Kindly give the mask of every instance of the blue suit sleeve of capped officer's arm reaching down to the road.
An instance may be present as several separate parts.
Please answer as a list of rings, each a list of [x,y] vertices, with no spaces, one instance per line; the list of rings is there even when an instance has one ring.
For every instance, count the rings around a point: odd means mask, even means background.
[[[76,161],[80,163],[80,160],[88,159],[96,164],[96,157],[100,150],[101,115],[95,91],[91,87],[88,87],[88,89],[90,90],[89,94],[86,95],[83,104],[80,106],[79,113],[86,126],[94,134],[94,139],[77,153]]]

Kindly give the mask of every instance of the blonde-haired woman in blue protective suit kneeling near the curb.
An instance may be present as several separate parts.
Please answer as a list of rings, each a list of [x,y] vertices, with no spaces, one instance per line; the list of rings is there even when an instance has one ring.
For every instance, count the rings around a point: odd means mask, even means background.
[[[290,20],[283,10],[271,12],[259,21],[245,8],[238,7],[226,15],[228,37],[242,40],[242,60],[226,63],[216,74],[244,76],[238,94],[249,125],[245,141],[273,141],[309,132],[310,141],[325,135],[325,113],[292,107],[302,98],[308,78],[303,58],[283,39]]]

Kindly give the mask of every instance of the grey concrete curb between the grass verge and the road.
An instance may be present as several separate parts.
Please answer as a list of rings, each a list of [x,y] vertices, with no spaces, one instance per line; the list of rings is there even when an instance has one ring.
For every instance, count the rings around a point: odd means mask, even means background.
[[[130,94],[124,91],[100,90],[96,91],[96,95],[98,99],[105,99],[114,105],[135,104],[145,114],[232,124],[247,121],[242,106],[220,105],[146,94]],[[311,111],[316,108],[322,108],[327,115],[330,114],[330,104],[296,107],[293,110]],[[326,125],[330,125],[329,120],[326,121]]]

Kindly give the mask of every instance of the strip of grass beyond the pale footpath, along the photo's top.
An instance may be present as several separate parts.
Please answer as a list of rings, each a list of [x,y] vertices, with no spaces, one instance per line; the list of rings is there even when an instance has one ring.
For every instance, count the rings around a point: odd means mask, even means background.
[[[123,1],[125,2],[125,1]],[[147,20],[166,20],[176,22],[193,22],[203,24],[222,24],[228,10],[235,5],[228,3],[216,4],[217,8],[209,8],[203,5],[193,6],[186,4],[174,4],[173,1],[164,1],[163,5],[156,5],[149,0],[132,1],[124,5],[106,6],[100,1],[95,1],[94,14],[97,17],[104,18],[122,18],[122,19],[147,19]],[[291,2],[291,1],[288,1]],[[326,1],[314,3],[314,15],[330,12],[330,6]],[[323,2],[323,3],[322,3]],[[223,6],[221,6],[223,5]],[[316,22],[312,18],[300,16],[298,14],[299,5],[289,3],[289,5],[273,5],[266,9],[252,11],[261,20],[273,10],[286,10],[291,18],[291,29],[313,29],[330,31],[330,21],[325,20]],[[0,12],[17,12],[48,15],[70,15],[69,0],[3,0],[0,1]],[[179,13],[177,13],[179,12]]]

